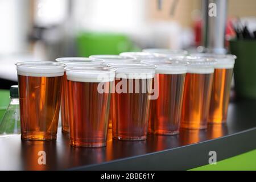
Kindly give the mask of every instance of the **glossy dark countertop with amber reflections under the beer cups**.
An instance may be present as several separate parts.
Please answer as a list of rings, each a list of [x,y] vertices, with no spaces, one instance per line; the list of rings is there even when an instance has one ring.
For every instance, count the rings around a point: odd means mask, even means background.
[[[51,142],[30,142],[20,135],[0,138],[1,170],[47,169],[190,169],[208,164],[209,151],[217,160],[256,148],[256,101],[229,105],[226,125],[207,130],[181,130],[179,135],[148,135],[139,142],[112,140],[103,148],[75,148],[69,136],[57,134]],[[46,151],[46,165],[38,164],[38,152]]]

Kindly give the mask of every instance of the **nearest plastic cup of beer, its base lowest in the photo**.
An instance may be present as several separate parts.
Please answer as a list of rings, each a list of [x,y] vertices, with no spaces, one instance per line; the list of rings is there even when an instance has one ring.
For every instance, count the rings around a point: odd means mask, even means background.
[[[75,147],[106,146],[110,93],[115,69],[66,67],[69,136]]]

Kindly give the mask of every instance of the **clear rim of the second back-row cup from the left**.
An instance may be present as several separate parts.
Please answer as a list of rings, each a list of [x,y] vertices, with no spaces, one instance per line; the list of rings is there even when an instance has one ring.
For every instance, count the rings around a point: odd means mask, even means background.
[[[94,60],[104,60],[104,61],[113,61],[113,60],[123,60],[123,61],[135,61],[136,57],[133,56],[120,56],[120,55],[90,55],[90,59]]]

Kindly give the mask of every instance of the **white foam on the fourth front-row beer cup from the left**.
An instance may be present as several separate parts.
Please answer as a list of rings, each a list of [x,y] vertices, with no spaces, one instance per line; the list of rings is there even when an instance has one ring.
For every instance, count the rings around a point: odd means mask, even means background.
[[[166,75],[177,75],[187,73],[187,65],[185,61],[141,61],[144,64],[156,65],[155,73]]]

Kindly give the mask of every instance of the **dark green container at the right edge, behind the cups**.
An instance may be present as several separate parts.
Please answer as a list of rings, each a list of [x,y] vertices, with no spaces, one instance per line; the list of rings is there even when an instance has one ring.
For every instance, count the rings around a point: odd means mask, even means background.
[[[230,52],[237,56],[234,65],[237,97],[256,99],[256,40],[231,40]]]

